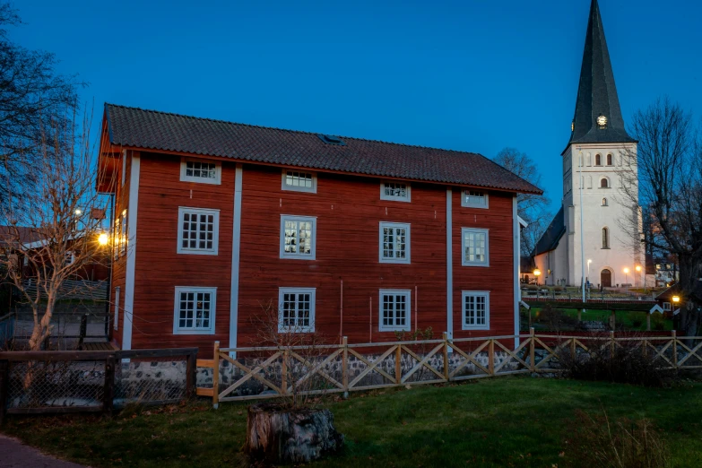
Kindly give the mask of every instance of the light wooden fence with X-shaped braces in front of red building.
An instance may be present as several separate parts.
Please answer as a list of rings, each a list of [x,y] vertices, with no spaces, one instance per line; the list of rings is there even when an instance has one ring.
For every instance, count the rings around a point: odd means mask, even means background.
[[[519,338],[519,345],[514,344]],[[418,347],[427,351],[418,353]],[[660,359],[664,368],[702,368],[702,336],[615,336],[613,332],[600,335],[529,334],[417,342],[378,342],[349,344],[346,337],[341,344],[316,346],[316,359],[303,355],[303,347],[275,348],[220,348],[214,343],[213,360],[197,360],[199,368],[211,369],[212,387],[198,387],[197,394],[212,397],[216,408],[220,402],[248,399],[276,398],[298,394],[347,393],[393,386],[425,385],[455,382],[481,377],[497,377],[521,373],[556,373],[562,353],[572,355],[598,352],[613,354],[616,347],[640,348],[652,359]],[[367,352],[363,352],[367,351]],[[612,355],[611,354],[611,355]],[[359,365],[355,373],[351,361]],[[386,360],[391,362],[386,363]],[[405,365],[403,368],[403,360]],[[393,362],[394,361],[394,362]],[[337,373],[329,370],[337,363]],[[226,363],[226,364],[225,364]],[[290,384],[290,363],[304,369],[296,383],[316,377],[324,388]],[[384,366],[384,363],[389,364]],[[227,384],[221,378],[224,364],[233,370]],[[338,372],[341,368],[341,372]],[[388,369],[389,368],[389,369]],[[425,377],[416,378],[424,371]],[[375,381],[368,382],[374,374]],[[377,380],[382,379],[382,383]],[[255,382],[256,394],[237,391],[247,383]],[[263,391],[261,391],[263,389]]]

